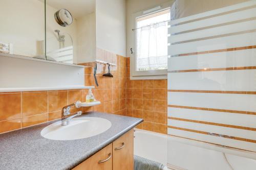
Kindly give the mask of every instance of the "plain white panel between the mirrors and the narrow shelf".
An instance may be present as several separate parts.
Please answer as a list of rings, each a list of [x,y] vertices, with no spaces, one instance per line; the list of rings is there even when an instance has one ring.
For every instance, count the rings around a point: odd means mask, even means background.
[[[0,54],[0,88],[83,86],[84,68],[4,57]]]

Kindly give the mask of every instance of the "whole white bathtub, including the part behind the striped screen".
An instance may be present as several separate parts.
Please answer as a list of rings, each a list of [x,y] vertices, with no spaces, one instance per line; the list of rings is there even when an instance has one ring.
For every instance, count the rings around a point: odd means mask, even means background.
[[[256,155],[135,129],[134,154],[183,170],[255,170]],[[168,144],[167,144],[168,143]]]

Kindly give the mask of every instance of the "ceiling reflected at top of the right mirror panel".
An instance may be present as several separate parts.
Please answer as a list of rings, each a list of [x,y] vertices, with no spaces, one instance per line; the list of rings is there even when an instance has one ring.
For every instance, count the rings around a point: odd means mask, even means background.
[[[67,9],[74,18],[95,11],[95,0],[46,0],[46,4],[56,9]]]

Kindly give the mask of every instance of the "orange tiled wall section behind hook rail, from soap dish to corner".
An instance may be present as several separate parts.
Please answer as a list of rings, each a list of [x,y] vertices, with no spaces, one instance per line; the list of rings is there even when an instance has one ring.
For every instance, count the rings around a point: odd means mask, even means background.
[[[112,56],[113,59],[110,62],[115,63],[117,66],[111,66],[111,74],[114,78],[103,77],[102,75],[108,72],[108,66],[105,64],[97,63],[97,82],[99,86],[96,86],[93,76],[93,66],[95,63],[84,69],[84,82],[86,86],[95,86],[93,90],[95,99],[100,101],[101,104],[93,107],[92,109],[99,112],[113,113],[119,115],[126,115],[125,106],[125,70],[126,70],[126,58],[104,53],[105,56]],[[103,57],[102,57],[103,58]],[[108,59],[110,60],[110,59]]]

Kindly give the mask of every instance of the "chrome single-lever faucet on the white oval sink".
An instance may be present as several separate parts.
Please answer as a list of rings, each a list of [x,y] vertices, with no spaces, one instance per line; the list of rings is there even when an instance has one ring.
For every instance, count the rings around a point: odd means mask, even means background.
[[[65,106],[62,108],[62,111],[61,111],[61,125],[62,126],[66,126],[66,125],[69,125],[69,122],[70,120],[75,117],[75,116],[80,116],[82,114],[82,111],[78,111],[76,114],[72,115],[72,116],[69,116],[69,117],[66,117],[68,115],[70,115],[70,109],[72,106],[75,106],[76,108],[80,108],[79,104],[81,102],[80,101],[77,101],[76,103],[74,104],[71,104],[71,105],[68,105],[68,106]]]

